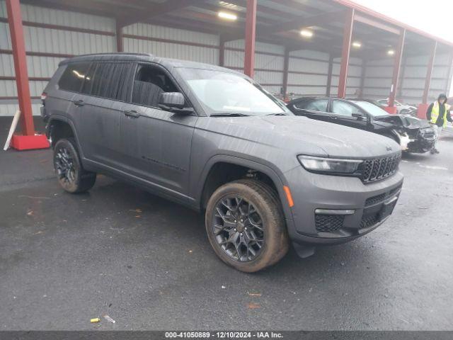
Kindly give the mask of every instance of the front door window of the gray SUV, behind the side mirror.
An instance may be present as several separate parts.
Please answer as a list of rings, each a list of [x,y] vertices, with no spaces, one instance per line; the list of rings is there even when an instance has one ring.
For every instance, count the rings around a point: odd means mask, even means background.
[[[162,92],[177,92],[170,78],[158,67],[141,65],[132,89],[132,103],[157,107]]]

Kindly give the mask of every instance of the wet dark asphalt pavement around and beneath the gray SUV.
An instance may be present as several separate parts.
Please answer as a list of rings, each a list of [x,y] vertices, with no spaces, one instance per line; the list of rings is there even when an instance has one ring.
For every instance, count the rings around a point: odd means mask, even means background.
[[[440,151],[403,158],[374,232],[254,274],[197,212],[105,176],[64,193],[50,150],[0,152],[0,329],[452,330],[453,139]]]

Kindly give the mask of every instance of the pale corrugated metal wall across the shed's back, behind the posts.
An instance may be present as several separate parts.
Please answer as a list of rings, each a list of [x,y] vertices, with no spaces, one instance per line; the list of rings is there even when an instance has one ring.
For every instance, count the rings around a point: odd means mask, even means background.
[[[47,80],[57,69],[57,64],[71,55],[95,52],[115,52],[115,20],[83,13],[59,11],[50,8],[21,5],[23,20],[33,26],[24,26],[25,50],[27,51],[30,93],[33,113],[39,114],[39,96]],[[41,26],[41,27],[35,27]],[[81,30],[81,31],[79,31]],[[149,52],[161,57],[172,57],[218,64],[219,36],[191,32],[176,28],[136,23],[123,30],[125,52]],[[224,65],[243,70],[244,41],[226,42]],[[255,79],[273,94],[280,94],[283,83],[285,50],[281,45],[256,42]],[[329,55],[311,50],[293,51],[289,54],[288,93],[293,96],[324,96],[328,83]],[[432,72],[430,100],[440,91],[447,91],[447,55],[437,55]],[[425,84],[428,56],[407,57],[401,69],[401,86],[397,99],[419,103]],[[369,98],[386,98],[391,86],[393,62],[369,61],[350,58],[347,96],[364,82],[363,94]],[[340,58],[333,60],[331,96],[338,91]],[[13,56],[6,5],[0,0],[0,115],[13,115],[16,100]]]

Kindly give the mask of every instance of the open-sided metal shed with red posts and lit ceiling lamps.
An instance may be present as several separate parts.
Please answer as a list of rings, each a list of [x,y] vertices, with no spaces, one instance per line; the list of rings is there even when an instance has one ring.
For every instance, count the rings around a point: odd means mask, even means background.
[[[15,24],[23,28],[33,115],[58,63],[87,53],[220,64],[283,97],[389,97],[390,112],[395,98],[418,105],[448,93],[452,76],[452,43],[346,0],[1,0],[3,116],[21,99]],[[27,111],[25,99],[19,102]]]

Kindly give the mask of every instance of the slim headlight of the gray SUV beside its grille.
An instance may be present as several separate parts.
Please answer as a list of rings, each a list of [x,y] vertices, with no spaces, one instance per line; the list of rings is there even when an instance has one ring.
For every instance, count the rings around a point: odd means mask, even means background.
[[[328,174],[354,174],[363,163],[357,159],[333,159],[300,155],[300,164],[308,171],[325,172]]]

